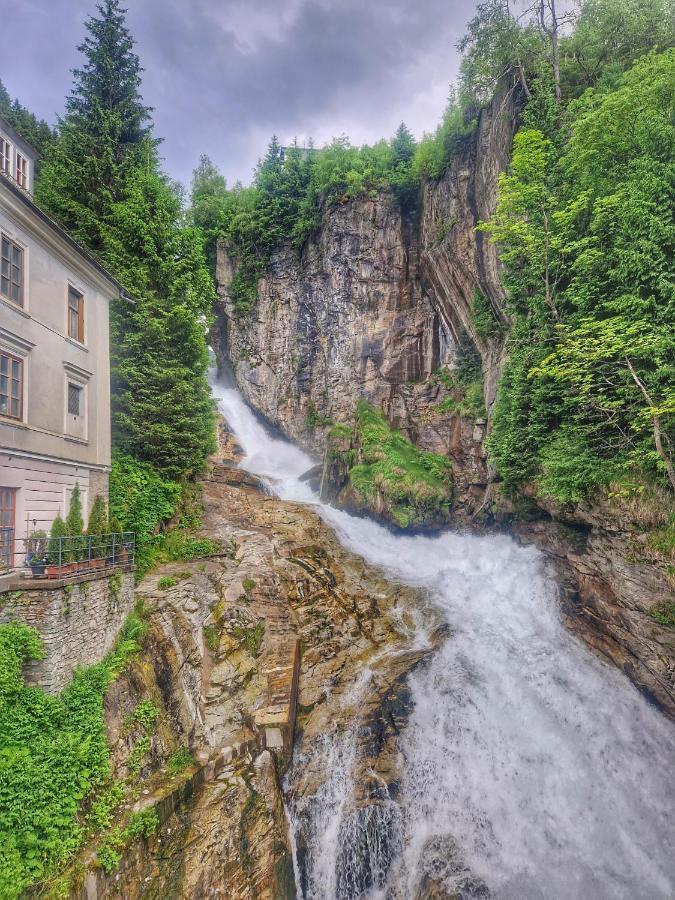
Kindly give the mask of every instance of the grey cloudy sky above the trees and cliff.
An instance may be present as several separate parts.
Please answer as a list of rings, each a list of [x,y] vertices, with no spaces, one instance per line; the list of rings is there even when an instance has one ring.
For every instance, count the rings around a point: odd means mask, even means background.
[[[127,0],[168,173],[207,153],[250,180],[272,134],[389,137],[438,123],[474,0]],[[0,0],[0,77],[54,123],[95,0]]]

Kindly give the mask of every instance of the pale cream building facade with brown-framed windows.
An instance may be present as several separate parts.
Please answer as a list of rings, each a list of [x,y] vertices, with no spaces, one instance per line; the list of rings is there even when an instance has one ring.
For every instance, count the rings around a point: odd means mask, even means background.
[[[122,296],[34,203],[36,160],[0,119],[0,529],[13,540],[65,516],[76,483],[85,511],[107,498],[108,307]]]

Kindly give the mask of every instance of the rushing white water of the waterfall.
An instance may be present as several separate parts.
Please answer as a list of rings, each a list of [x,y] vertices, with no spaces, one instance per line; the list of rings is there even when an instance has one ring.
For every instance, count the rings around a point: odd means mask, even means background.
[[[354,851],[361,869],[365,852],[389,872],[362,895],[413,898],[425,873],[442,880],[443,854],[439,865],[430,848],[452,838],[494,898],[675,896],[675,728],[565,631],[541,555],[505,536],[395,535],[321,504],[299,481],[312,460],[271,438],[236,389],[214,394],[244,468],[315,506],[366,561],[427,588],[450,627],[409,679],[397,821],[382,823],[395,836],[389,852]],[[364,827],[348,821],[353,746],[348,729],[326,736],[331,775],[290,810],[303,829],[305,900],[359,896],[345,851]]]

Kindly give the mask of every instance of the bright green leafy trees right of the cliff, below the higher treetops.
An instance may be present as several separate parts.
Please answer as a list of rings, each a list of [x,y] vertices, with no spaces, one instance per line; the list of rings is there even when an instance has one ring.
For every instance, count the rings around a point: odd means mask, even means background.
[[[486,226],[509,362],[489,451],[507,484],[576,502],[633,473],[675,488],[675,51],[514,141]]]

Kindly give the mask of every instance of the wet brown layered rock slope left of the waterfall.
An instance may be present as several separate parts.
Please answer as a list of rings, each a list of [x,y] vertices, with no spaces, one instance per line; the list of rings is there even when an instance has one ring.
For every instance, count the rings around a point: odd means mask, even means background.
[[[335,723],[349,721],[365,742],[359,802],[373,802],[374,772],[381,784],[400,775],[388,711],[427,652],[403,652],[409,616],[417,611],[433,631],[435,614],[414,590],[346,552],[311,510],[270,497],[237,471],[221,460],[204,483],[204,535],[222,553],[144,579],[137,596],[149,622],[146,649],[106,698],[113,775],[130,785],[117,818],[124,825],[133,810],[153,808],[159,828],[133,841],[109,874],[97,864],[100,838],[92,841],[61,881],[69,896],[295,896],[280,787],[291,746],[273,740],[270,723],[280,726],[291,687],[284,654],[292,679],[299,641],[299,694],[288,710],[292,728],[297,700],[298,752],[313,757]],[[344,697],[370,665],[377,678],[366,701],[350,707]],[[144,729],[135,710],[148,701],[159,715]],[[193,762],[172,774],[180,747]],[[329,776],[308,767],[294,792],[315,792]]]

